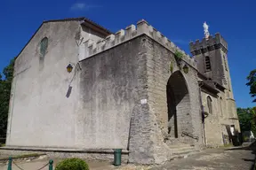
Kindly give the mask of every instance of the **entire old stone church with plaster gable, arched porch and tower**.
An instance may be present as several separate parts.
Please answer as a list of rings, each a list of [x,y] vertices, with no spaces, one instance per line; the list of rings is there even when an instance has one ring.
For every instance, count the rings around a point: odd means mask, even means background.
[[[15,60],[6,148],[123,149],[154,164],[230,143],[240,128],[228,44],[216,34],[189,46],[193,57],[145,20],[116,34],[44,21]]]

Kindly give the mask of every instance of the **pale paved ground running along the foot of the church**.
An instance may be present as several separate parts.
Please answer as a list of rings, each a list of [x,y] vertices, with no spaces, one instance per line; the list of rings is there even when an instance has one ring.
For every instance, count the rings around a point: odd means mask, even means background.
[[[256,150],[249,147],[239,147],[230,149],[211,149],[202,151],[188,158],[175,159],[162,166],[134,166],[122,165],[115,167],[106,161],[87,161],[90,170],[251,170],[254,165]],[[36,170],[44,166],[49,158],[41,156],[35,160],[22,160],[17,164],[24,170]],[[54,159],[54,166],[59,160]],[[6,170],[6,163],[0,165],[0,170]],[[19,170],[18,167],[12,166],[12,170]],[[48,170],[48,166],[42,170]]]

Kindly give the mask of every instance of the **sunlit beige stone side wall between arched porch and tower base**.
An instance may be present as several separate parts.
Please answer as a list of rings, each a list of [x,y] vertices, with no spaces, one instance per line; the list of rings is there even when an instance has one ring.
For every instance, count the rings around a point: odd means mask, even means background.
[[[217,147],[230,143],[231,138],[228,138],[227,126],[235,125],[236,130],[240,132],[239,121],[236,120],[237,114],[232,113],[230,117],[230,112],[236,109],[235,101],[228,100],[224,91],[220,91],[217,97],[202,92],[204,112],[209,112],[207,97],[212,98],[212,114],[204,120],[205,144],[209,147]]]

